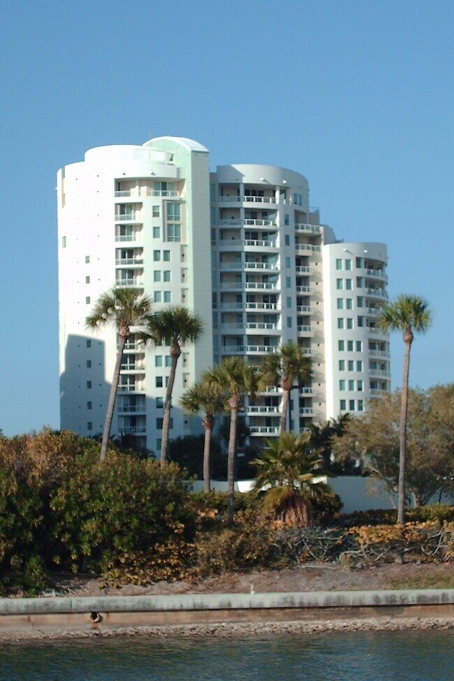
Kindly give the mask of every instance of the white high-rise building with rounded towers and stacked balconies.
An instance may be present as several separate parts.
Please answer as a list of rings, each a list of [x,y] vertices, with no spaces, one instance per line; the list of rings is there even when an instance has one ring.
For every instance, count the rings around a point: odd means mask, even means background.
[[[390,389],[388,336],[375,328],[386,300],[386,246],[344,244],[309,209],[307,180],[268,165],[223,165],[181,137],[142,147],[91,149],[59,171],[61,428],[103,428],[117,350],[115,332],[85,319],[113,285],[145,292],[154,309],[182,304],[204,334],[184,347],[170,437],[198,419],[178,407],[184,389],[231,355],[258,360],[293,341],[312,358],[313,381],[293,391],[300,431],[361,412]],[[168,349],[126,346],[112,434],[159,451]],[[278,389],[247,404],[252,437],[277,435]]]

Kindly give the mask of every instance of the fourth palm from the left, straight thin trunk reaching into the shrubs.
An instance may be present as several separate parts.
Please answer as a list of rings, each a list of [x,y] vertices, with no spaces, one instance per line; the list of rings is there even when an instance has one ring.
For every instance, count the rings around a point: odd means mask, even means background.
[[[227,489],[228,522],[233,523],[235,458],[237,450],[237,417],[242,408],[244,395],[254,395],[261,387],[258,368],[248,364],[242,357],[226,357],[221,364],[205,373],[203,380],[214,384],[223,391],[230,412],[230,433],[228,436]]]

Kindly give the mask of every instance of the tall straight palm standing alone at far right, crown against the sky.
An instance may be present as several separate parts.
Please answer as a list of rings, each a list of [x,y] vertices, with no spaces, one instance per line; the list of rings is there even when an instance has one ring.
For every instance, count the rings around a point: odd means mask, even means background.
[[[413,331],[424,334],[430,327],[431,313],[427,301],[418,296],[398,296],[386,305],[378,320],[384,331],[402,331],[404,336],[404,375],[402,378],[402,398],[400,405],[399,428],[399,485],[397,491],[397,523],[404,522],[405,511],[405,460],[407,456],[407,412],[409,390],[410,350]]]

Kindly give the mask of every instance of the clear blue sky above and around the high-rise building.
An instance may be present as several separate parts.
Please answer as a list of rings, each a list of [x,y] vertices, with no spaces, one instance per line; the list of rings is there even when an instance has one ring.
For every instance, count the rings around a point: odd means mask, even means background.
[[[3,433],[59,427],[57,169],[158,135],[297,170],[338,238],[385,241],[434,315],[411,384],[453,382],[453,30],[444,0],[3,2]]]

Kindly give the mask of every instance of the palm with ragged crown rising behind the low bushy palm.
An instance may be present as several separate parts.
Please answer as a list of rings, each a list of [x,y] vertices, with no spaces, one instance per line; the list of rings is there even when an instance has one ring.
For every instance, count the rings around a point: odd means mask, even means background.
[[[267,354],[261,369],[267,385],[281,386],[280,433],[285,433],[291,389],[312,379],[311,360],[305,356],[300,345],[287,343],[280,350]]]

